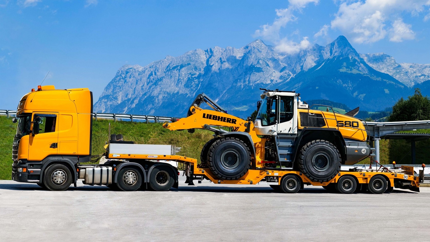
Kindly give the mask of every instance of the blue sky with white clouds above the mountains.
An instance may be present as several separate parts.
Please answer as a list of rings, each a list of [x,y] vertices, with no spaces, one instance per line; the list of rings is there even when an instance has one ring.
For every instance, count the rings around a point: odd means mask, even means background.
[[[44,81],[97,100],[122,65],[259,38],[294,53],[345,35],[359,53],[430,63],[429,0],[0,0],[0,109]]]

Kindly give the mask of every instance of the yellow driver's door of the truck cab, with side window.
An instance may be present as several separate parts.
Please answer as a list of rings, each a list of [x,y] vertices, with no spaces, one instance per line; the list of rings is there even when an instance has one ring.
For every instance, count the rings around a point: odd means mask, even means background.
[[[33,113],[32,121],[37,117],[39,133],[31,134],[28,146],[28,160],[41,161],[48,155],[57,155],[58,150],[58,113]],[[31,124],[33,130],[34,123]]]

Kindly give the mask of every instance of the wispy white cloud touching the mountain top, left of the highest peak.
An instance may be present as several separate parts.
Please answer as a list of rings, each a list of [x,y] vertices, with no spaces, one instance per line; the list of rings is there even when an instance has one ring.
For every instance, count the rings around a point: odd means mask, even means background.
[[[294,12],[301,11],[308,3],[317,4],[318,2],[319,0],[289,0],[288,8],[276,9],[276,19],[273,23],[260,26],[260,29],[255,31],[254,37],[261,37],[275,43],[275,50],[281,53],[292,54],[308,48],[310,43],[307,37],[304,37],[300,43],[296,43],[286,37],[281,38],[279,31],[285,28],[289,22],[297,20]]]

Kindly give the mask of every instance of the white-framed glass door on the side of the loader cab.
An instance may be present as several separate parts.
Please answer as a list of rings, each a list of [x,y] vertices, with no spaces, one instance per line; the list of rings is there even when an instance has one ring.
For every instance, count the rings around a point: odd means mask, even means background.
[[[277,96],[277,133],[297,133],[295,96]]]

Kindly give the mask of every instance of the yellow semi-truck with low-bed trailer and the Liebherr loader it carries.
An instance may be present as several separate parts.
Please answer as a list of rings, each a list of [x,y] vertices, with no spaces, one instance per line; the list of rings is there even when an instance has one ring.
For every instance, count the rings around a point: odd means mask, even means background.
[[[255,122],[228,114],[199,94],[186,118],[173,119],[169,130],[206,129],[214,138],[203,146],[200,160],[176,155],[179,147],[135,144],[121,134],[110,134],[103,165],[91,161],[92,93],[87,88],[56,90],[38,86],[18,103],[17,133],[12,147],[12,180],[37,183],[50,190],[65,190],[77,180],[88,185],[135,191],[141,186],[156,191],[178,187],[178,170],[157,160],[185,164],[187,183],[211,180],[221,184],[256,184],[294,193],[304,184],[352,193],[369,189],[382,193],[394,186],[419,191],[424,174],[403,170],[340,171],[372,156],[357,109],[342,115],[328,106],[311,106],[295,92],[265,90]],[[205,102],[213,110],[202,109]],[[321,108],[322,107],[322,108]],[[318,109],[316,109],[318,108]],[[321,110],[323,109],[323,110]],[[224,127],[220,128],[220,127]],[[227,131],[227,128],[229,131]],[[200,182],[200,181],[199,181]]]

